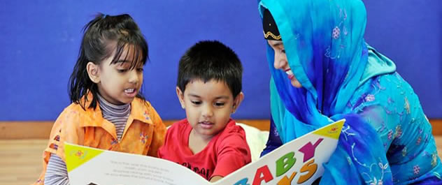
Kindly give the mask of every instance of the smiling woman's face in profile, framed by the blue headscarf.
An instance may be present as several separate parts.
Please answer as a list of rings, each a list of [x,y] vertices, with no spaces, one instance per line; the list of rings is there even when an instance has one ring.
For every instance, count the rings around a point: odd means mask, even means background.
[[[280,40],[267,40],[270,47],[275,51],[275,61],[273,61],[273,66],[276,69],[280,69],[287,74],[287,77],[290,79],[290,82],[294,87],[302,87],[301,83],[297,80],[297,77],[294,76],[292,69],[290,68],[287,56],[285,55],[283,41]]]

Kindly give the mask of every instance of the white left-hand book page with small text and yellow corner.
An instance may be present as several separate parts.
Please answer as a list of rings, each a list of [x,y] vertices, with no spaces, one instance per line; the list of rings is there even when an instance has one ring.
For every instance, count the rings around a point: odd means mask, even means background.
[[[209,184],[182,165],[161,158],[65,145],[71,185],[85,184]]]

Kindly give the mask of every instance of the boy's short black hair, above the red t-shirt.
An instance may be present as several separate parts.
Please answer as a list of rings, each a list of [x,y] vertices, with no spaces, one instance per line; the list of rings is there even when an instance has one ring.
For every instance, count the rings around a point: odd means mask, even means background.
[[[242,88],[243,66],[236,53],[217,40],[203,40],[185,52],[178,66],[176,86],[185,91],[192,80],[225,82],[236,96]]]

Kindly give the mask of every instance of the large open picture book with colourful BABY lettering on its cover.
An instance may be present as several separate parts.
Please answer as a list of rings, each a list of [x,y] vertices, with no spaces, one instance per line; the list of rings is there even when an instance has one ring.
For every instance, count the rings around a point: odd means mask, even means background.
[[[72,185],[312,184],[322,176],[322,163],[326,163],[336,149],[344,121],[336,121],[287,142],[215,183],[183,165],[161,158],[66,143],[69,181]]]

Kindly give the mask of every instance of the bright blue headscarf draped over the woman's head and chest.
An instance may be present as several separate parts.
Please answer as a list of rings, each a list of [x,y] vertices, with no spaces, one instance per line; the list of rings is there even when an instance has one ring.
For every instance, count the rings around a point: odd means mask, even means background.
[[[264,8],[276,21],[289,66],[302,85],[293,87],[283,71],[273,68],[274,51],[267,45],[271,114],[282,142],[345,118],[320,183],[392,184],[383,142],[350,105],[367,80],[396,70],[364,41],[362,1],[259,1],[261,16]]]

